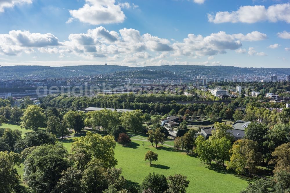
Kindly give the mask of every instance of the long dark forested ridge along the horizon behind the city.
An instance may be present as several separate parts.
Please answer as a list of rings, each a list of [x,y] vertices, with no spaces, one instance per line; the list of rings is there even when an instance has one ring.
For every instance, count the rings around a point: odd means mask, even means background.
[[[240,68],[234,66],[201,66],[201,65],[164,65],[148,67],[127,67],[118,65],[79,65],[66,67],[48,66],[2,66],[0,67],[0,79],[26,79],[29,77],[48,76],[50,78],[76,77],[93,74],[115,73],[134,70],[158,70],[170,71],[175,74],[195,76],[198,74],[207,76],[250,75],[265,76],[269,74],[289,75],[290,68]]]

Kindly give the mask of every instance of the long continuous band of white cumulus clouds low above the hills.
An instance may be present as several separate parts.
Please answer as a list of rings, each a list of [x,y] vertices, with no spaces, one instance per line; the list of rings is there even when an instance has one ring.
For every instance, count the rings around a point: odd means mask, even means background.
[[[220,65],[218,62],[212,62],[214,55],[226,54],[228,50],[246,53],[248,50],[242,48],[242,41],[260,41],[266,38],[266,34],[257,31],[248,34],[227,34],[220,31],[208,36],[188,34],[183,41],[179,42],[149,33],[141,34],[135,29],[123,28],[118,31],[109,31],[100,26],[89,29],[85,33],[72,33],[67,40],[59,42],[53,34],[13,30],[9,34],[0,34],[0,54],[20,55],[39,52],[58,57],[74,56],[88,60],[108,55],[110,61],[122,61],[124,65],[126,63],[134,63],[134,65],[175,63],[176,55],[191,59],[201,59],[206,56],[207,60],[211,61],[209,65]],[[249,48],[248,54],[266,55],[264,52],[257,52],[255,48]],[[172,60],[169,60],[168,58],[171,57]]]

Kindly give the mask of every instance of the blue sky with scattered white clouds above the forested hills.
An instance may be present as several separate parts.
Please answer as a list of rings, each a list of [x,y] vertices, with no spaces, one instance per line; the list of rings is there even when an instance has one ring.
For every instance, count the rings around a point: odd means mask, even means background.
[[[4,65],[289,68],[283,0],[1,0]]]

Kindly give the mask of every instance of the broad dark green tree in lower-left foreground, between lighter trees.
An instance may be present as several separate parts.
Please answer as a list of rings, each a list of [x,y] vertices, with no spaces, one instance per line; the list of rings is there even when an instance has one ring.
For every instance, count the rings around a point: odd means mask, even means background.
[[[36,147],[24,161],[23,180],[32,192],[51,192],[70,167],[68,152],[61,144]]]

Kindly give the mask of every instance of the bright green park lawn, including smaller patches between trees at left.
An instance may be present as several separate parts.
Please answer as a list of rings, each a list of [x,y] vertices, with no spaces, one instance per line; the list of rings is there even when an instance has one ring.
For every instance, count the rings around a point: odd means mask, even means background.
[[[30,132],[21,129],[19,125],[2,124],[0,127],[19,129],[23,132],[23,136],[26,132]],[[70,138],[59,139],[59,141],[70,151],[73,138],[84,136],[85,132],[72,134]],[[165,145],[154,148],[151,143],[145,141],[146,134],[133,132],[128,132],[128,134],[134,135],[131,136],[130,145],[117,144],[115,158],[118,160],[117,168],[123,169],[122,175],[132,184],[141,183],[149,172],[155,172],[166,177],[174,174],[186,175],[190,181],[187,192],[240,192],[247,187],[248,181],[253,180],[227,171],[215,163],[212,166],[204,165],[198,158]],[[145,144],[144,147],[142,143]],[[173,141],[166,141],[166,144],[173,145]],[[151,166],[149,161],[144,161],[145,153],[148,150],[158,154],[158,161],[153,162]],[[17,171],[22,177],[23,164],[21,164],[21,168],[17,168]]]

